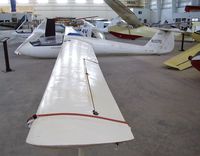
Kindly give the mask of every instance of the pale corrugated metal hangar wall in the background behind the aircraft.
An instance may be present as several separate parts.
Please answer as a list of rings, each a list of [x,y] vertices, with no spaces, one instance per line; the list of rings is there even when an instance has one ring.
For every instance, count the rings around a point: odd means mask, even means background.
[[[9,11],[9,4],[2,4],[9,0],[0,0],[0,11]],[[113,18],[117,16],[105,3],[96,4],[98,0],[85,0],[86,3],[76,3],[76,0],[66,0],[67,3],[58,4],[57,1],[47,0],[47,4],[39,4],[38,1],[45,0],[17,0],[28,4],[17,3],[18,11],[33,11],[41,17],[70,16],[85,17],[99,16],[103,18]],[[84,1],[84,0],[82,0]],[[151,9],[151,22],[168,20],[173,22],[174,16],[182,16],[185,5],[200,5],[200,0],[121,0],[131,7],[146,7]]]

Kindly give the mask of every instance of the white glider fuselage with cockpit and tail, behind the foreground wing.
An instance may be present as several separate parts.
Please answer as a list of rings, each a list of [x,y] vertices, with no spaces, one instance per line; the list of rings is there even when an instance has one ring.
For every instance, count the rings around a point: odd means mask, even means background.
[[[96,29],[92,29],[91,31],[91,27],[88,30],[87,27],[82,30],[84,30],[84,32],[87,31],[87,33],[83,33],[82,31],[77,32],[72,27],[66,27],[64,34],[56,33],[54,36],[44,35],[44,29],[42,31],[35,30],[33,34],[16,49],[15,53],[38,58],[57,58],[63,43],[70,39],[90,44],[96,54],[161,55],[171,52],[174,48],[174,34],[168,30],[159,30],[144,46],[105,40],[102,34],[97,33]],[[88,36],[89,31],[90,36]],[[84,34],[87,35],[83,36]]]

